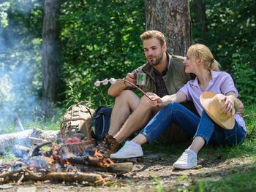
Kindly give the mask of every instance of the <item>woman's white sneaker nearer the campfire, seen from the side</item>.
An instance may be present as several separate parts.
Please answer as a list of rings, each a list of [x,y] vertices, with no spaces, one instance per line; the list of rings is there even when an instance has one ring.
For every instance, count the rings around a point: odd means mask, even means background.
[[[136,158],[143,156],[140,145],[135,142],[125,142],[124,146],[116,153],[112,153],[110,158]]]

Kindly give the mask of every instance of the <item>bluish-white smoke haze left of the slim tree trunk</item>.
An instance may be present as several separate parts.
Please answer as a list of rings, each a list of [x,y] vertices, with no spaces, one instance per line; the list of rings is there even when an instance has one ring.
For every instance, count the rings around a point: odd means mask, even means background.
[[[19,12],[29,18],[26,15],[35,4],[33,0],[0,3],[0,134],[13,128],[20,131],[17,118],[26,125],[40,111],[40,40],[29,34],[24,22],[17,24],[17,18],[7,17]]]

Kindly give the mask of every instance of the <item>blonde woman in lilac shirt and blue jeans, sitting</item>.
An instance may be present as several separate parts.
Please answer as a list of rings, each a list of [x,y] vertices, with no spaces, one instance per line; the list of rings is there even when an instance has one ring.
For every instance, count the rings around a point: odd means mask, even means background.
[[[187,82],[176,94],[162,98],[151,96],[154,100],[151,104],[165,107],[151,119],[137,137],[130,142],[127,141],[117,153],[111,154],[110,158],[131,158],[143,155],[140,145],[153,142],[169,128],[170,123],[176,123],[189,134],[189,137],[193,137],[192,144],[173,164],[178,169],[192,169],[197,166],[197,153],[204,145],[237,145],[244,142],[246,127],[239,114],[244,106],[237,99],[238,91],[230,74],[219,72],[219,63],[208,47],[201,44],[189,47],[184,66],[186,73],[196,75],[195,80]],[[234,104],[239,103],[232,129],[222,128],[203,110],[200,95],[208,91],[224,95],[222,110],[225,115],[232,115]],[[179,104],[186,100],[194,102],[200,117]]]

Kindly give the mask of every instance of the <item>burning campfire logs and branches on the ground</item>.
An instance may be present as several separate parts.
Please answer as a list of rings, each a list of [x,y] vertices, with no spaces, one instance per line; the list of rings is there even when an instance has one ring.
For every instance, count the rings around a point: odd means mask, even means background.
[[[4,137],[7,136],[0,136],[1,150],[5,147],[1,141]],[[32,138],[34,142],[31,142],[31,134],[29,134],[26,137],[30,141],[29,145],[15,147],[15,150],[20,150],[15,153],[17,160],[0,161],[0,185],[20,184],[29,180],[105,185],[109,180],[113,180],[116,174],[124,174],[132,170],[132,162],[115,163],[110,158],[104,158],[94,146],[74,153],[70,150],[70,146],[63,143],[57,144],[42,138]],[[0,155],[5,155],[1,150]]]

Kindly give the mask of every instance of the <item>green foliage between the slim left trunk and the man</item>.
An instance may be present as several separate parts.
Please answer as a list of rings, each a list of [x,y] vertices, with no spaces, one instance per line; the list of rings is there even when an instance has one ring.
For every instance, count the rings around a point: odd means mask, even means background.
[[[143,1],[67,1],[61,12],[64,100],[70,100],[72,91],[81,100],[113,104],[106,96],[108,87],[97,88],[94,82],[124,77],[145,62],[140,42]]]

